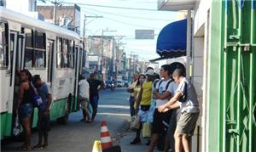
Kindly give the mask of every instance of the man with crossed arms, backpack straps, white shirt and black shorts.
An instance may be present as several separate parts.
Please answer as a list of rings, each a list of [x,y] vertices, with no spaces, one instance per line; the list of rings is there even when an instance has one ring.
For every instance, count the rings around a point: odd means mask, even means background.
[[[154,110],[154,120],[152,124],[152,135],[150,138],[150,147],[148,149],[148,152],[154,151],[154,146],[159,142],[160,138],[163,138],[166,136],[166,132],[168,129],[168,124],[170,121],[170,117],[172,115],[172,111],[166,112],[166,113],[160,113],[158,111],[158,107],[160,107],[163,104],[166,104],[169,99],[172,97],[173,93],[173,85],[175,85],[174,82],[172,82],[171,79],[171,68],[169,65],[162,65],[160,69],[160,76],[162,80],[157,83],[156,85],[156,91],[154,92],[154,98],[155,101],[155,110]],[[167,136],[166,136],[166,142],[167,143]],[[165,144],[168,145],[168,144]]]

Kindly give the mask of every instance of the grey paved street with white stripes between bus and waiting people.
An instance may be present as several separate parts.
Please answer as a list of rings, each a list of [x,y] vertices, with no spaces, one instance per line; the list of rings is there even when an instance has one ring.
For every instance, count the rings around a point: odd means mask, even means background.
[[[118,88],[114,92],[102,91],[99,101],[99,113],[91,123],[80,122],[81,111],[69,117],[67,125],[54,125],[49,132],[49,147],[40,151],[85,151],[90,152],[95,140],[100,140],[101,121],[107,121],[108,129],[113,138],[113,144],[119,144],[122,152],[145,151],[144,144],[130,145],[135,132],[129,131],[129,93],[125,88]],[[32,134],[32,145],[37,144],[37,132]],[[20,142],[8,141],[1,145],[3,151],[17,151]]]

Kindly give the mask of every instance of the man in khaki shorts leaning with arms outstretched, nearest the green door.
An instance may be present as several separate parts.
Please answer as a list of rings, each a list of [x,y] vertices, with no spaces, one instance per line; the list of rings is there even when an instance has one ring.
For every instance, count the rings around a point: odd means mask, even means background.
[[[185,78],[184,73],[183,69],[174,70],[172,76],[174,81],[178,82],[177,91],[168,103],[158,108],[160,112],[181,108],[181,116],[177,121],[174,134],[176,152],[180,152],[182,149],[185,152],[190,151],[189,137],[194,133],[200,112],[195,87]]]

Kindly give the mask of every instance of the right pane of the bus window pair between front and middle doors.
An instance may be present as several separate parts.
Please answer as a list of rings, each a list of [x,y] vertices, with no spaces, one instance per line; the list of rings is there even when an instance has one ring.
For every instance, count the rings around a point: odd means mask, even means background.
[[[34,48],[34,67],[45,68],[46,52],[45,52],[45,34],[36,31],[35,33],[35,48]]]

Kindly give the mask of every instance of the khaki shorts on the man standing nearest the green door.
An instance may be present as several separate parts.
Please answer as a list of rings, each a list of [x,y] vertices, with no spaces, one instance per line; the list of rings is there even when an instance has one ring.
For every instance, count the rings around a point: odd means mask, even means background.
[[[183,112],[180,115],[179,120],[177,121],[175,134],[193,136],[198,117],[199,117],[199,112],[198,113]]]

